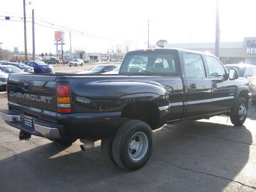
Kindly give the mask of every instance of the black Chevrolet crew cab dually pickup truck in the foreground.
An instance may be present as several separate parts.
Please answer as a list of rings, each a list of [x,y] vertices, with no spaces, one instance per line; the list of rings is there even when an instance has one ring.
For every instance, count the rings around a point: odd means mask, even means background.
[[[127,170],[150,158],[152,130],[183,120],[229,115],[242,125],[251,103],[246,80],[227,73],[214,55],[180,49],[126,54],[118,75],[10,74],[2,118],[31,135],[60,144],[80,139]]]

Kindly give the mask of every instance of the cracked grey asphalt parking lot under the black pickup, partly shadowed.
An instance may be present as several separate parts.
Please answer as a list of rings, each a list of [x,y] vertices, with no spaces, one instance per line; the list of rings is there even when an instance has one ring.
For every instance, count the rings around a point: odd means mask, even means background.
[[[7,106],[0,94],[0,109]],[[0,118],[0,191],[255,191],[256,105],[243,126],[212,117],[154,132],[147,164],[127,172],[104,159],[100,142],[85,152],[77,140],[60,146],[19,131]]]

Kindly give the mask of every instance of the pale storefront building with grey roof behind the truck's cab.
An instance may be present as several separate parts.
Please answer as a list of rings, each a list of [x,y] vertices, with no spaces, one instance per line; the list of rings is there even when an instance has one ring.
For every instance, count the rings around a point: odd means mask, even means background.
[[[215,42],[165,44],[164,48],[180,48],[215,54]],[[241,42],[220,42],[219,58],[224,63],[256,65],[256,37],[245,37]]]

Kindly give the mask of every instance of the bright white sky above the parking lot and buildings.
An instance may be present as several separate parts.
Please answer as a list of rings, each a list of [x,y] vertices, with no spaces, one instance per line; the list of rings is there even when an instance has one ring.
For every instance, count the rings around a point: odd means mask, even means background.
[[[72,51],[105,53],[116,45],[121,48],[129,45],[130,50],[145,49],[148,20],[151,45],[160,39],[168,43],[215,41],[216,0],[26,0],[26,4],[29,2],[31,5],[26,5],[29,53],[32,53],[29,22],[32,9],[36,54],[56,52],[54,31],[59,29],[65,32],[64,51],[70,50],[70,32]],[[256,36],[255,0],[220,0],[219,7],[222,42]],[[11,19],[5,20],[5,16]],[[23,0],[0,2],[0,42],[4,49],[18,47],[24,51]]]

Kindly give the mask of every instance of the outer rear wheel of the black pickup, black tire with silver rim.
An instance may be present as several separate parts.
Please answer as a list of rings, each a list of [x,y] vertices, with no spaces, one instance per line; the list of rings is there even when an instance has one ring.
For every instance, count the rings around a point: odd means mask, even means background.
[[[140,120],[123,123],[113,139],[112,154],[116,164],[126,170],[143,167],[153,151],[151,127]]]

